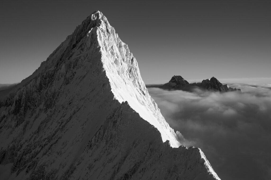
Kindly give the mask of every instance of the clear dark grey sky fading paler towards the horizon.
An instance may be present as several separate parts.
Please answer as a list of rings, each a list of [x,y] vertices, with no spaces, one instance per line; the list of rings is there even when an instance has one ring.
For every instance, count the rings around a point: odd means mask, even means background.
[[[270,1],[1,1],[0,83],[31,75],[93,11],[138,61],[146,84],[271,77]]]

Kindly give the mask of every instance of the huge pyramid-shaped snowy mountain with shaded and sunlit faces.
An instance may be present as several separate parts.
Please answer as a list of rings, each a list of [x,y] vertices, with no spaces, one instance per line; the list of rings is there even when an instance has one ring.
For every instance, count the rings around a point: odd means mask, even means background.
[[[165,121],[99,11],[0,91],[0,179],[219,179]]]

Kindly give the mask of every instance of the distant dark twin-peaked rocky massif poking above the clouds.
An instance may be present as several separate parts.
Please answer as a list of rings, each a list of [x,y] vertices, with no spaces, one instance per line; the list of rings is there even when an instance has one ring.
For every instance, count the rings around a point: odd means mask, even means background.
[[[149,86],[154,87],[154,86]],[[183,79],[182,76],[174,75],[171,80],[163,84],[162,86],[156,86],[162,89],[176,89],[176,90],[183,90],[183,91],[191,91],[195,87],[199,87],[203,90],[208,91],[220,91],[220,92],[227,92],[227,91],[241,91],[241,89],[232,88],[227,84],[222,84],[219,82],[215,77],[211,79],[205,79],[201,81],[201,83],[192,83],[190,84],[188,81]]]

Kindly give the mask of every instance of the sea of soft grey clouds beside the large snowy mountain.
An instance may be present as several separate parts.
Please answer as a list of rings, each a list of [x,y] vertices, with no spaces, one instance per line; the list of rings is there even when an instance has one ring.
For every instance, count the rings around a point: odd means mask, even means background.
[[[203,150],[221,179],[271,177],[271,84],[229,84],[243,93],[148,88],[186,146]]]

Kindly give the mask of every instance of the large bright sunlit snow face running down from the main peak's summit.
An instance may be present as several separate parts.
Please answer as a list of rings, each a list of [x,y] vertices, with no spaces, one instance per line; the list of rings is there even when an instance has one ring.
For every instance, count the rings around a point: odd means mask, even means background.
[[[140,76],[137,61],[128,46],[120,40],[101,12],[97,11],[91,18],[99,22],[97,29],[93,28],[89,33],[96,31],[103,67],[115,99],[120,103],[127,101],[144,120],[159,130],[163,142],[169,140],[172,147],[179,147],[178,136],[150,97]]]

